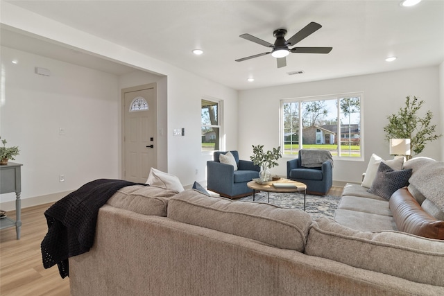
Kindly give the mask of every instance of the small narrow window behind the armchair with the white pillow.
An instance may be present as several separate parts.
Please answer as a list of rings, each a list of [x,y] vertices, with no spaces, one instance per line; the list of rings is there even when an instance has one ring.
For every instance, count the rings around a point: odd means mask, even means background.
[[[220,122],[220,103],[216,101],[201,101],[202,118],[202,151],[214,151],[221,149],[221,122]]]

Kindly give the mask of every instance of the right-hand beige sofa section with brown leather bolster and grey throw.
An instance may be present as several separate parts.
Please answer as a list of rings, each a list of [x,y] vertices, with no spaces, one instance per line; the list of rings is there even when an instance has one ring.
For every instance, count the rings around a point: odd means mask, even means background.
[[[368,192],[372,180],[364,179],[364,186],[346,184],[334,220],[361,231],[398,230],[444,240],[444,163],[427,157],[398,160],[398,164],[387,163],[398,169],[411,169],[408,186],[387,200]],[[371,162],[370,159],[369,168]]]

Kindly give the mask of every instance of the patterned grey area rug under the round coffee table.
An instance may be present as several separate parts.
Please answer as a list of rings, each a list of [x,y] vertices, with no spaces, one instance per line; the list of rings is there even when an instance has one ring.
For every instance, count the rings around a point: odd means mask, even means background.
[[[253,202],[253,195],[239,198],[239,200],[246,200]],[[339,196],[333,195],[309,195],[305,198],[305,211],[314,219],[317,218],[333,218],[334,211],[338,208]],[[268,193],[259,192],[255,195],[255,202],[268,202]],[[304,194],[303,193],[270,193],[270,203],[278,207],[286,209],[304,209]]]

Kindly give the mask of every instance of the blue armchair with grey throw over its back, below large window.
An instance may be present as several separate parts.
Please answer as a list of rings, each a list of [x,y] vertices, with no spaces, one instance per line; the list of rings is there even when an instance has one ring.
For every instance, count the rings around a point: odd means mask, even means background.
[[[309,150],[305,150],[306,153]],[[314,150],[312,150],[314,151]],[[330,155],[330,152],[325,153]],[[302,166],[302,150],[296,159],[287,162],[287,179],[307,185],[307,193],[325,195],[333,184],[333,162],[331,159],[319,163],[316,167]]]

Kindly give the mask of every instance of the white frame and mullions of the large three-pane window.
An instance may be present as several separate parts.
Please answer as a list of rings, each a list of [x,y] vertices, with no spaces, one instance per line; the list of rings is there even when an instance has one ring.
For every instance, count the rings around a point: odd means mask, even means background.
[[[303,130],[302,126],[302,116],[300,116],[302,113],[302,103],[304,102],[311,102],[311,101],[328,101],[328,100],[336,100],[338,103],[340,103],[341,99],[343,98],[353,98],[353,97],[359,97],[359,108],[360,108],[360,118],[359,118],[359,137],[360,137],[360,156],[359,157],[352,157],[349,155],[341,155],[341,145],[339,143],[337,148],[337,155],[333,155],[333,159],[341,159],[345,161],[364,161],[364,92],[350,92],[350,93],[342,93],[342,94],[330,94],[330,95],[322,95],[322,96],[303,96],[303,97],[296,97],[296,98],[284,98],[280,100],[280,116],[279,116],[279,142],[282,149],[282,157],[284,158],[294,158],[296,154],[291,153],[284,153],[284,104],[285,103],[298,103],[298,114],[299,114],[299,124],[298,128],[299,130]],[[338,105],[336,118],[340,118],[341,116],[341,108]],[[341,121],[337,120],[337,127],[336,130],[339,130],[339,137],[336,134],[336,141],[341,141]],[[348,138],[347,138],[348,139]],[[302,143],[302,132],[298,133],[298,150],[303,148]]]

